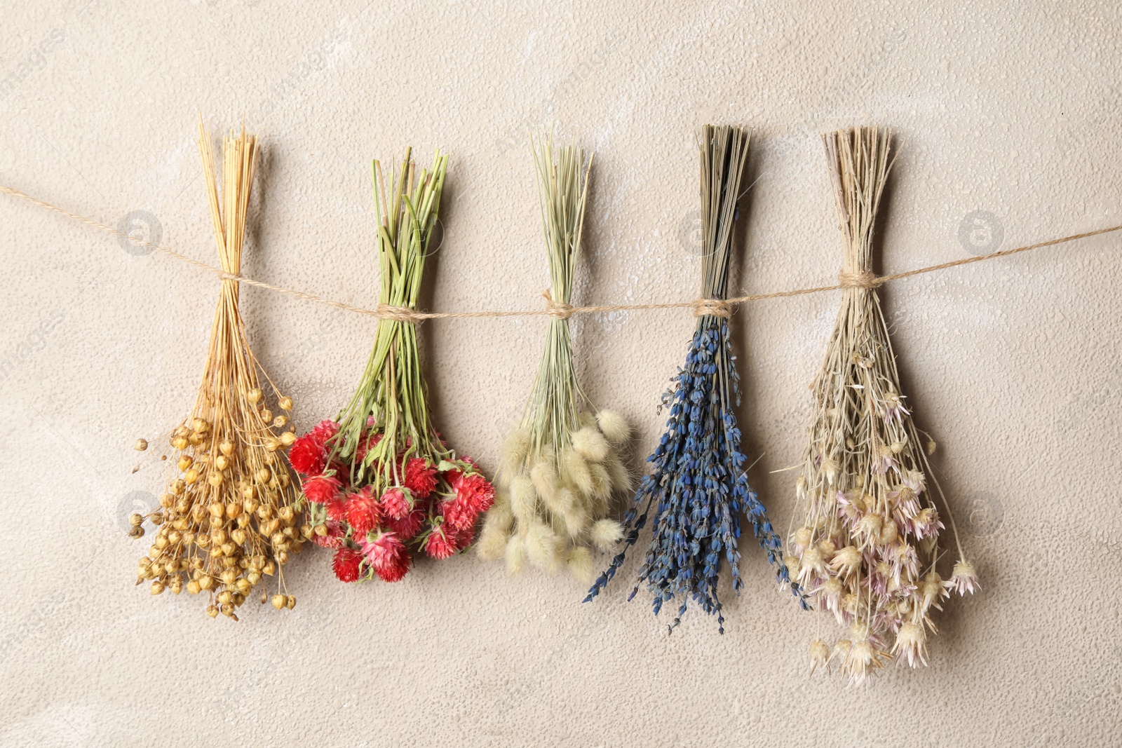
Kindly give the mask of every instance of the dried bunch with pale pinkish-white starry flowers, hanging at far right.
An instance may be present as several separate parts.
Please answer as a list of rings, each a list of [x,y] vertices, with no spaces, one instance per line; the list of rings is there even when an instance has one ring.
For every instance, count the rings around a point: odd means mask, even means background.
[[[813,418],[795,483],[802,523],[790,537],[791,575],[813,606],[848,632],[833,647],[810,645],[811,672],[835,663],[853,684],[894,658],[926,664],[931,609],[951,591],[977,587],[947,510],[957,563],[949,580],[940,556],[942,508],[928,453],[900,391],[892,343],[871,270],[876,209],[891,163],[891,133],[873,127],[824,137],[834,177],[846,286],[826,359],[812,385]],[[798,516],[798,515],[797,515]]]

